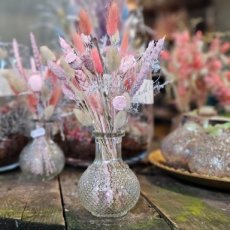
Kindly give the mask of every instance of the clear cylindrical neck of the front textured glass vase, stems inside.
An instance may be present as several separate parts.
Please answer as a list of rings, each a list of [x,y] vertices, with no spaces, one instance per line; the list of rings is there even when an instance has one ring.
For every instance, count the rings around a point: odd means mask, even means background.
[[[96,156],[95,161],[114,161],[122,160],[121,156],[121,144],[122,144],[122,133],[105,134],[97,133],[95,134],[95,144],[96,144]]]

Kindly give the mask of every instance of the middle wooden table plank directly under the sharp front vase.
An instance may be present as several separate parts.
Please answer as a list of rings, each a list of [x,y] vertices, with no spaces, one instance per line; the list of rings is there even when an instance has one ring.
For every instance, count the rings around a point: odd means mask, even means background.
[[[61,174],[60,183],[68,230],[166,230],[169,225],[155,209],[140,197],[135,208],[122,218],[96,218],[85,210],[78,200],[77,183],[81,172],[68,170]]]

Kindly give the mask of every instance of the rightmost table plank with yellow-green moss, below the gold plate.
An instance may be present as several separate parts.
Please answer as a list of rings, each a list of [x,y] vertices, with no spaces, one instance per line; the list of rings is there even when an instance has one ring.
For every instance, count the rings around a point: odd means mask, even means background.
[[[230,229],[230,194],[181,183],[156,169],[139,180],[144,196],[175,228]]]

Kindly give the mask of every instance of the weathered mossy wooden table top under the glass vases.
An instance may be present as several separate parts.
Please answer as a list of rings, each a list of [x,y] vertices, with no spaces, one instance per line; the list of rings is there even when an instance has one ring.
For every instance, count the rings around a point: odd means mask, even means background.
[[[66,168],[48,182],[28,181],[19,170],[0,175],[0,230],[229,230],[230,194],[182,183],[150,165],[134,167],[138,204],[126,216],[93,217],[79,203],[83,170]]]

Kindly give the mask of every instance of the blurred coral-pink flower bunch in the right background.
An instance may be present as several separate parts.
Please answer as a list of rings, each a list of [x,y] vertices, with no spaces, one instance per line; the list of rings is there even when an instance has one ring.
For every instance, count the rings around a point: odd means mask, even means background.
[[[170,87],[178,109],[187,112],[191,104],[200,108],[209,94],[215,95],[220,104],[229,104],[230,43],[215,38],[208,45],[200,32],[191,36],[188,31],[174,34],[174,42],[161,57],[162,72],[173,82]]]

